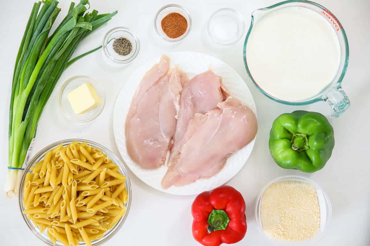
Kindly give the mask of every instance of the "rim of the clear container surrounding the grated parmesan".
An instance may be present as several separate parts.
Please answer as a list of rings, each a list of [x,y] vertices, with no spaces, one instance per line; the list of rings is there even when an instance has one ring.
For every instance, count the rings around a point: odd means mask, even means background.
[[[327,230],[327,228],[328,228],[328,226],[330,224],[330,221],[332,220],[332,204],[330,203],[330,199],[329,199],[329,196],[327,195],[327,193],[323,190],[323,188],[319,184],[316,183],[316,181],[313,181],[312,179],[309,179],[307,177],[300,176],[300,175],[283,175],[283,176],[279,176],[279,177],[276,177],[275,179],[272,179],[265,186],[263,186],[262,190],[260,191],[260,193],[257,196],[256,204],[255,204],[255,221],[256,221],[256,224],[257,224],[257,227],[258,227],[258,231],[265,237],[265,239],[268,239],[270,242],[277,243],[275,241],[275,239],[270,238],[263,231],[262,222],[261,222],[261,219],[259,217],[259,214],[260,214],[260,202],[261,202],[261,199],[262,199],[263,192],[271,184],[277,183],[277,182],[280,182],[280,181],[289,181],[289,180],[295,180],[295,181],[298,181],[298,182],[299,181],[303,181],[303,182],[309,183],[311,186],[313,186],[314,188],[316,188],[316,190],[319,189],[321,191],[323,197],[324,197],[325,207],[327,208],[327,210],[326,210],[326,221],[325,221],[324,229],[322,231],[322,235],[318,238],[318,240],[314,244],[314,245],[316,245],[323,238],[324,232]],[[299,243],[305,243],[305,242],[306,241],[297,241],[297,242],[293,241],[294,245],[299,245]],[[290,243],[290,242],[288,241],[288,243]],[[280,245],[279,243],[277,243],[277,244]]]

